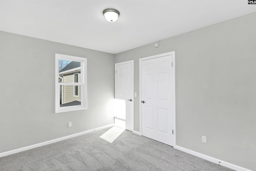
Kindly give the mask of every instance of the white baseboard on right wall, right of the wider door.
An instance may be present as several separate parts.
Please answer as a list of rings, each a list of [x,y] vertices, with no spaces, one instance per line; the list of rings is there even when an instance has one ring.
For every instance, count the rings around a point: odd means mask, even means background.
[[[186,148],[184,148],[184,147],[180,147],[180,146],[178,146],[178,145],[176,145],[176,149],[178,149],[178,150],[180,150],[180,151],[184,151],[184,152],[189,153],[189,154],[192,154],[192,155],[194,155],[194,156],[196,156],[196,157],[200,157],[200,158],[202,158],[202,159],[206,159],[206,160],[211,161],[211,162],[213,162],[213,163],[217,163],[217,164],[222,165],[222,166],[224,166],[224,167],[228,167],[228,168],[230,168],[230,169],[234,169],[234,170],[236,170],[236,171],[252,171],[252,170],[250,170],[250,169],[246,169],[246,168],[244,168],[244,167],[240,167],[240,166],[238,166],[238,165],[234,165],[234,164],[232,164],[232,163],[228,163],[228,162],[226,162],[226,161],[222,161],[222,160],[216,159],[216,158],[214,158],[214,157],[210,157],[210,156],[208,156],[208,155],[204,155],[204,154],[202,154],[202,153],[198,153],[198,152],[196,152],[196,151],[192,151],[192,150],[190,150],[190,149],[186,149]]]

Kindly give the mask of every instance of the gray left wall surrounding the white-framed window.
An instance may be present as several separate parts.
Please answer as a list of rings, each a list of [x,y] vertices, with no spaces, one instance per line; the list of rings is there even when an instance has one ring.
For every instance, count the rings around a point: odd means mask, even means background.
[[[0,153],[114,123],[113,54],[0,36]],[[55,53],[87,58],[88,109],[54,113]]]

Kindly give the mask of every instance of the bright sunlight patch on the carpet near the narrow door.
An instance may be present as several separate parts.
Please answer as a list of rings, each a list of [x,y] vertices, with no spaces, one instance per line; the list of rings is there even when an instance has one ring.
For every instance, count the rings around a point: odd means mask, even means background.
[[[109,143],[112,143],[122,132],[124,132],[124,130],[125,129],[123,128],[114,126],[106,131],[104,134],[102,134],[100,138],[108,141]]]

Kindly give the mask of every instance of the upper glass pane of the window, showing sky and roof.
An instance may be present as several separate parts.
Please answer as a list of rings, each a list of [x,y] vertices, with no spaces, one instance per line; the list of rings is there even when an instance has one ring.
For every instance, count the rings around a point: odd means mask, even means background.
[[[59,83],[80,83],[81,62],[59,60]]]

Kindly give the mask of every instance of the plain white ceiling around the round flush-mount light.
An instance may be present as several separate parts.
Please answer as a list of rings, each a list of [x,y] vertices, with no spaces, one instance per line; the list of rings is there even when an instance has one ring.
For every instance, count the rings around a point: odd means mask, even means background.
[[[117,54],[252,12],[247,0],[0,0],[0,30]]]

